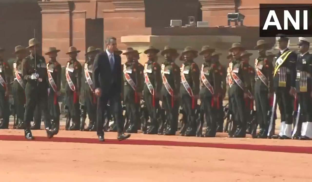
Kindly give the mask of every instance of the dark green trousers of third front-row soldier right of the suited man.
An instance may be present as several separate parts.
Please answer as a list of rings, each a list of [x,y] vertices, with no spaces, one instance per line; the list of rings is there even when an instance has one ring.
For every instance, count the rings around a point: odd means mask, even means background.
[[[162,106],[166,112],[166,122],[167,128],[166,134],[175,134],[178,130],[178,116],[179,116],[179,104],[178,100],[173,100],[172,107],[172,96],[169,93],[163,95]]]

